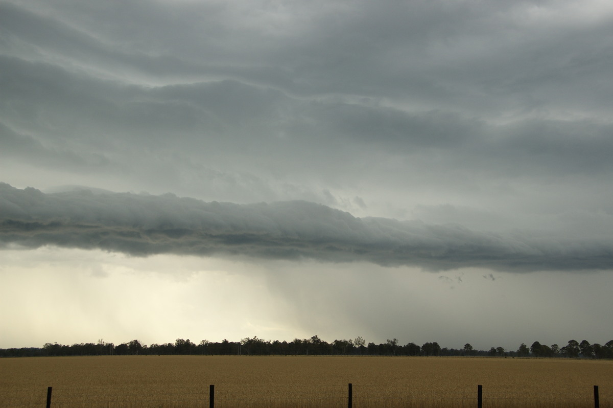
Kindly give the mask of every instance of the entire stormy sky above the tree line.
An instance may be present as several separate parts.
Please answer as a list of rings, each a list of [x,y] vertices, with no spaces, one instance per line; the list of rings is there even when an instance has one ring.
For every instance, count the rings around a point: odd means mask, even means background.
[[[613,3],[1,0],[0,348],[613,339]]]

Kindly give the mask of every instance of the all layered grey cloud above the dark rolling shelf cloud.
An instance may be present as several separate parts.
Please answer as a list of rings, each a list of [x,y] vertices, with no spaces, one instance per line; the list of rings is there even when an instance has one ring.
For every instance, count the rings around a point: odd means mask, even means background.
[[[0,171],[384,217],[611,213],[612,21],[599,1],[6,1]]]

